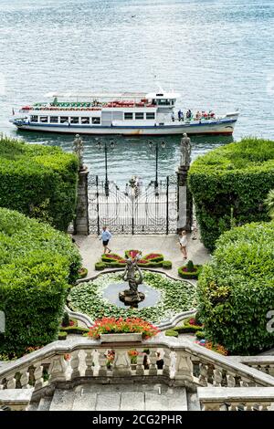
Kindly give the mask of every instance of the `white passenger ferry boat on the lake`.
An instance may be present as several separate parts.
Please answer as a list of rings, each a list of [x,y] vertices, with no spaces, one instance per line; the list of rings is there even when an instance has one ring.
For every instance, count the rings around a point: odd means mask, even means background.
[[[180,94],[163,90],[113,94],[52,92],[46,97],[52,100],[22,107],[10,121],[19,130],[27,131],[139,136],[232,134],[238,117],[237,111],[217,115],[213,111],[176,110]]]

